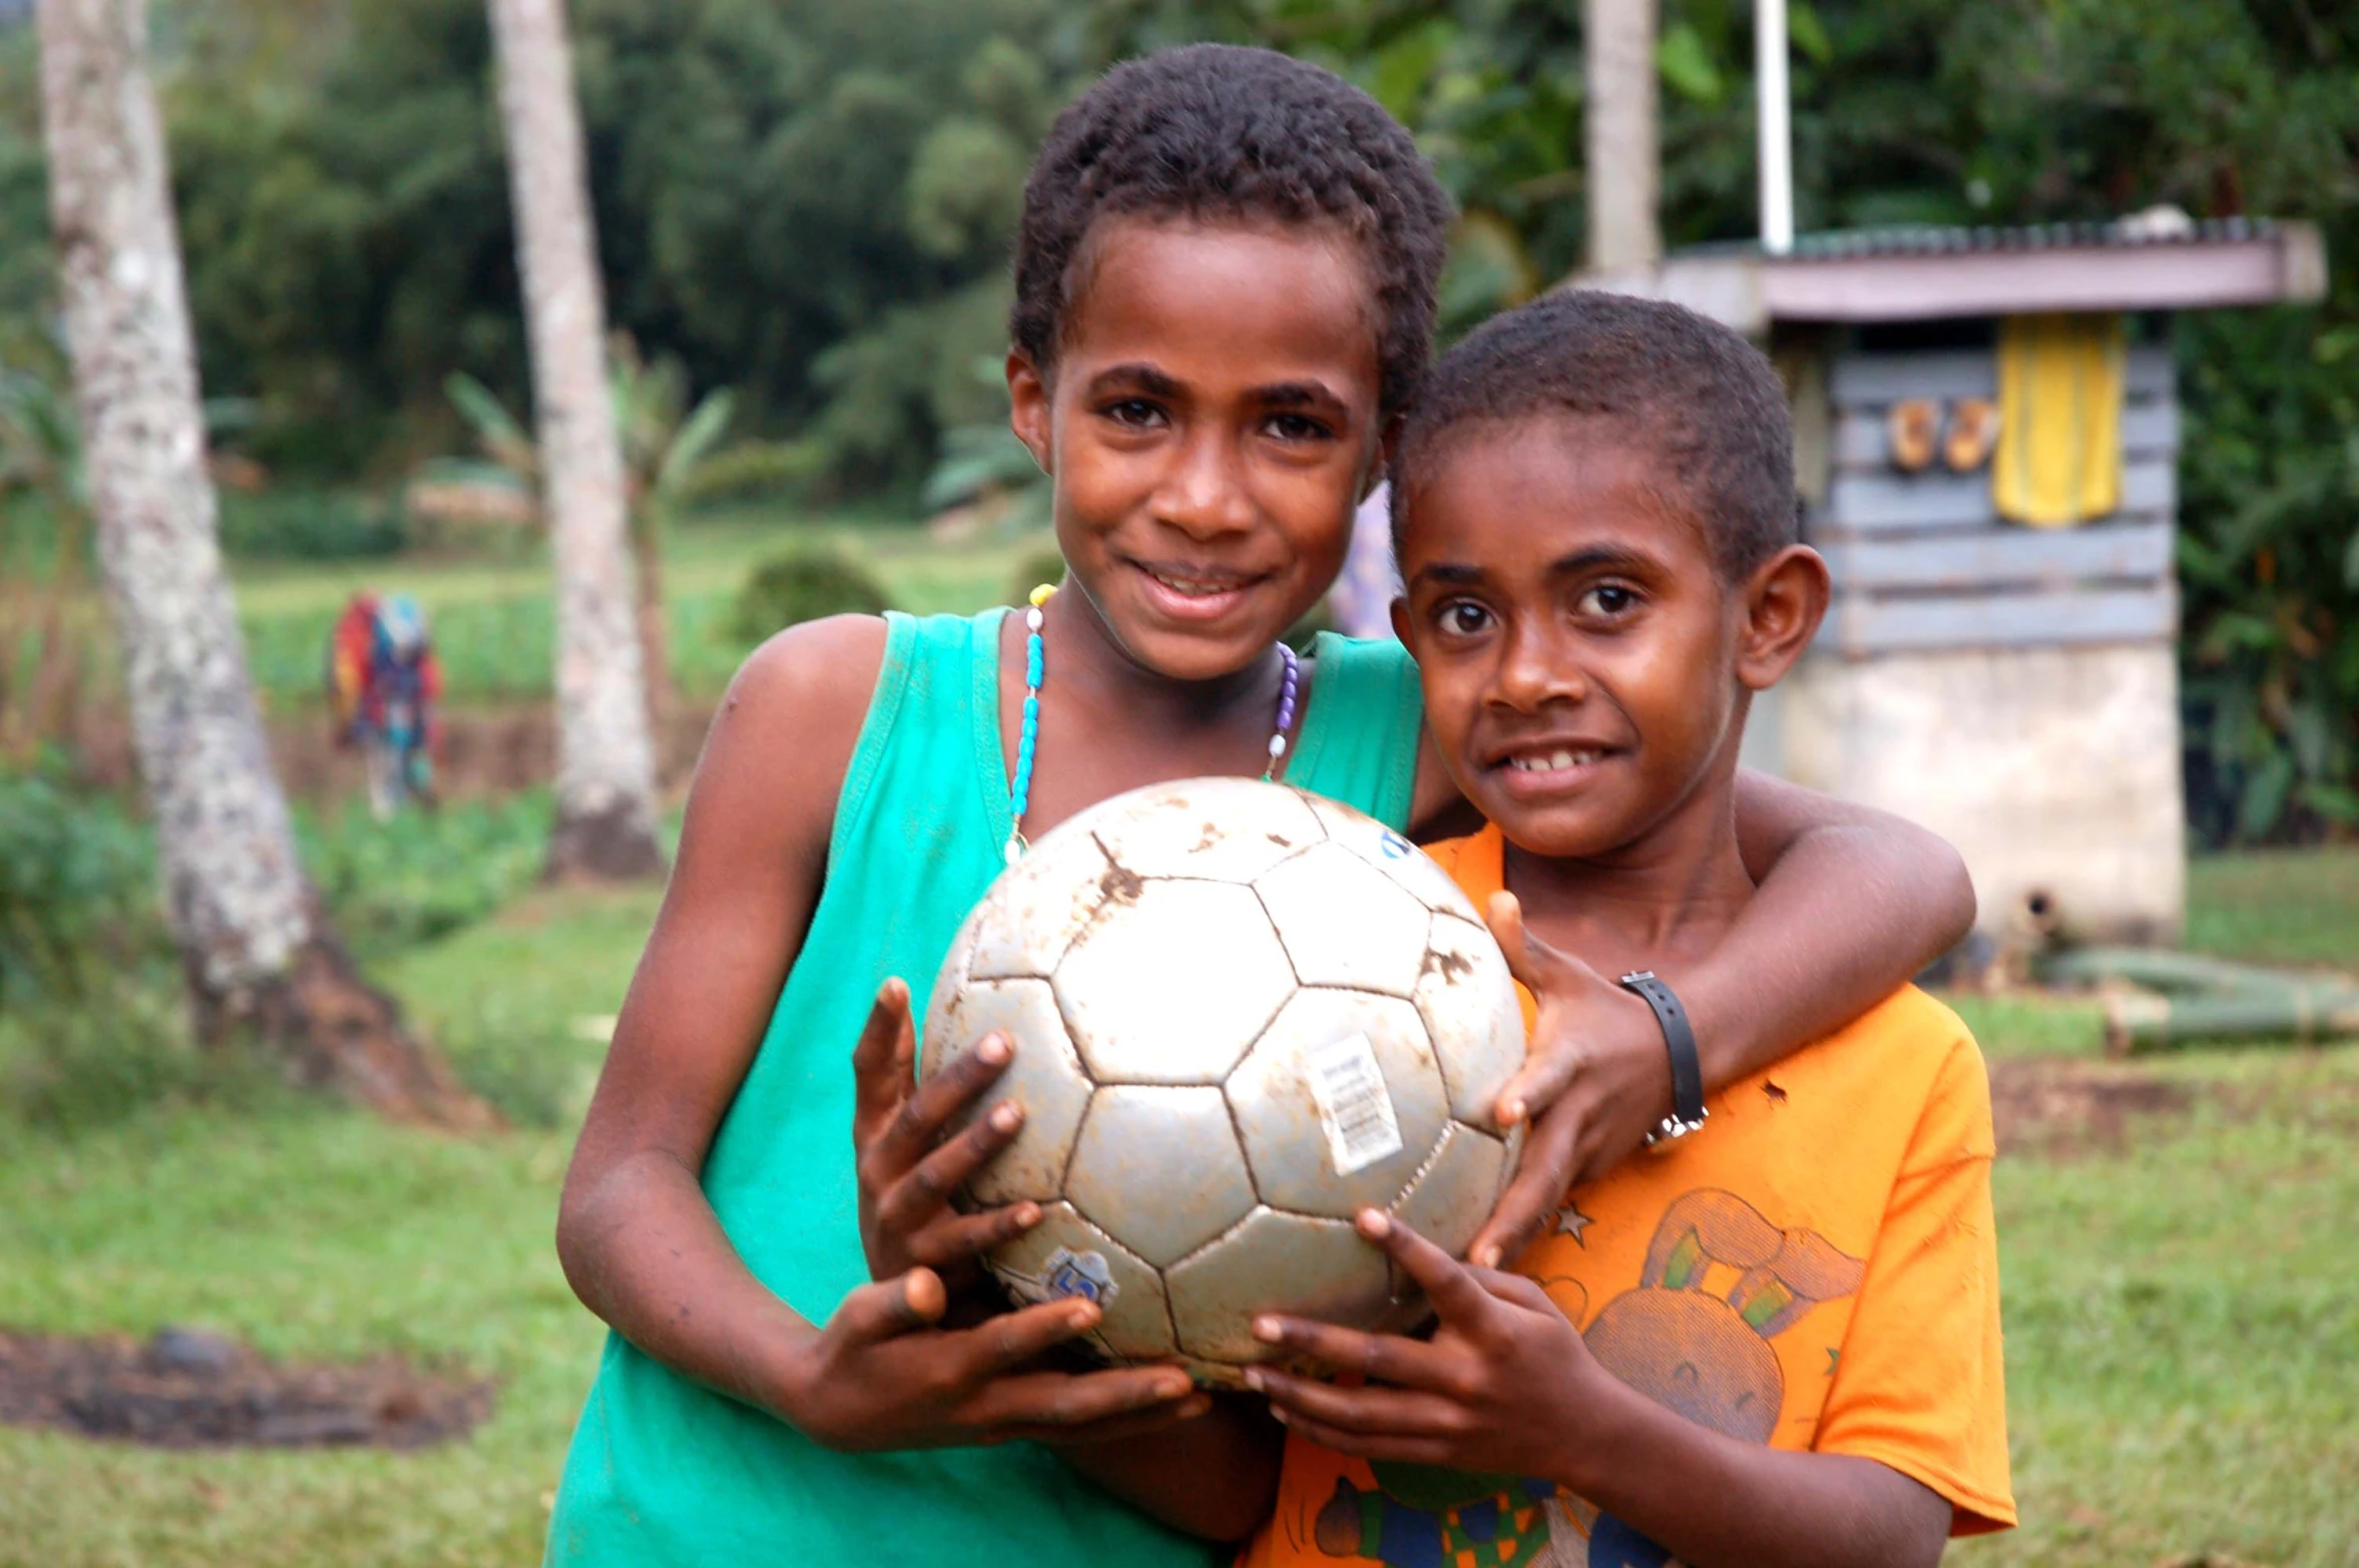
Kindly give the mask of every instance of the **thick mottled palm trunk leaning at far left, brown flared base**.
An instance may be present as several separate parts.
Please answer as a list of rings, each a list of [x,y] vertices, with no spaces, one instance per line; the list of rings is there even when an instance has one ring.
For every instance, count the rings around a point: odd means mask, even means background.
[[[295,854],[222,573],[144,0],[40,0],[38,26],[99,568],[201,1035],[255,1028],[300,1082],[488,1125],[354,969]]]

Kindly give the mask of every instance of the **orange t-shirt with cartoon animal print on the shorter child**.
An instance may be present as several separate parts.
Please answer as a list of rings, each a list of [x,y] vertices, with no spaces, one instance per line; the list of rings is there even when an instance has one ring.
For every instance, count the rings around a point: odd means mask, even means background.
[[[1481,908],[1486,828],[1432,849]],[[1526,1021],[1531,997],[1524,997]],[[1753,1443],[1878,1460],[2015,1523],[1991,1224],[1991,1087],[1953,1012],[1897,990],[1708,1101],[1703,1132],[1571,1191],[1517,1261],[1625,1384]],[[1663,1563],[1555,1483],[1286,1441],[1241,1568]]]

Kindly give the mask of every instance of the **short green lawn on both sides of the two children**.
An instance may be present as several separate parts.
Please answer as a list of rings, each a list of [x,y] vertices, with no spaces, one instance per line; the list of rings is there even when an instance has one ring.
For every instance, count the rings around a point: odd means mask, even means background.
[[[2196,870],[2196,929],[2298,962],[2359,917],[2352,858]],[[2298,898],[2307,910],[2281,910]],[[597,1351],[550,1252],[566,1129],[653,896],[533,894],[385,974],[502,1103],[484,1141],[269,1101],[61,1141],[0,1120],[0,1323],[203,1323],[290,1358],[403,1351],[502,1379],[413,1455],[156,1452],[0,1427],[0,1568],[526,1563]],[[2347,927],[2345,927],[2347,929]],[[2350,953],[2352,948],[2342,948]],[[2090,1056],[2083,1004],[1965,1004],[1998,1073]],[[2359,1563],[2359,1049],[2189,1052],[2121,1137],[1998,1170],[2026,1528],[1956,1563]]]

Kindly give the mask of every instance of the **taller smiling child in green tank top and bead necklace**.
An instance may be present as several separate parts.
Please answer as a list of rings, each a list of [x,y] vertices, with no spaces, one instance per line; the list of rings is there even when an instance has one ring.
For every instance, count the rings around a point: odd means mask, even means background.
[[[1276,639],[1333,582],[1425,368],[1446,226],[1406,132],[1276,54],[1146,57],[1059,118],[1007,358],[1069,564],[1026,835],[1142,783],[1262,773]],[[1406,655],[1321,639],[1300,681],[1290,783],[1434,830],[1456,795]],[[566,1177],[559,1254],[613,1335],[552,1563],[1205,1563],[1267,1511],[1267,1467],[1217,1460],[1274,1441],[1267,1412],[1170,1368],[1054,1370],[1090,1304],[958,1290],[1031,1217],[941,1193],[1019,1122],[941,1141],[981,1082],[911,1087],[894,976],[934,974],[1003,863],[1021,705],[1005,613],[793,627],[731,684]],[[1956,856],[1901,823],[1750,778],[1739,816],[1765,882],[1687,983],[1710,1085],[1885,995],[1970,915]],[[1477,1250],[1670,1099],[1644,1002],[1583,974],[1543,990],[1503,1096],[1533,1120],[1524,1177]]]

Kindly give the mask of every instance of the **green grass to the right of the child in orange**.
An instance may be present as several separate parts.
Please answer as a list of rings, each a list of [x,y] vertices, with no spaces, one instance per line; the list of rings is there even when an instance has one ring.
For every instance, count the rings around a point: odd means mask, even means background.
[[[2130,1148],[2003,1160],[1998,1563],[2359,1563],[2359,1047],[2189,1056]]]

